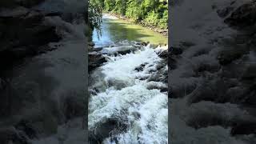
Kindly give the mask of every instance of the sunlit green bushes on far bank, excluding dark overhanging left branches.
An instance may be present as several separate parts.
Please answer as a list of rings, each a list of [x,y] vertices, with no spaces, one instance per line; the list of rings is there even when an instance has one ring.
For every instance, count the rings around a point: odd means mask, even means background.
[[[167,0],[105,0],[104,10],[126,16],[134,22],[167,29]]]

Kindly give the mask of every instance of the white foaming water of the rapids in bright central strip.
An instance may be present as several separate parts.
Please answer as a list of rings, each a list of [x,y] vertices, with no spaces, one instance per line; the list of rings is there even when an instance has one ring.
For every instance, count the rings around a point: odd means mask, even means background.
[[[94,130],[107,119],[118,119],[127,125],[127,130],[106,138],[103,143],[158,143],[168,141],[168,98],[166,93],[150,86],[166,86],[163,82],[148,82],[147,78],[157,71],[162,58],[156,49],[143,46],[134,53],[107,56],[103,66],[91,74],[98,93],[91,95],[89,102],[89,130]],[[145,65],[143,70],[136,67]],[[164,67],[167,70],[167,66]],[[102,76],[97,81],[97,76]]]

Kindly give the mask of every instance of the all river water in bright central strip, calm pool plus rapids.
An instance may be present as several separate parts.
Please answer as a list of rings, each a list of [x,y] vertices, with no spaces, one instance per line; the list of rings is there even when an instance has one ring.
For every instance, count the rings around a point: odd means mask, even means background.
[[[149,38],[148,41],[153,38],[155,43],[166,42],[165,38],[154,35],[150,30],[147,30],[149,33],[146,30],[142,30],[142,34],[139,31],[135,33],[136,30],[129,26],[136,26],[119,22],[104,17],[102,37],[97,38],[94,33],[96,46],[107,46],[115,42],[123,46],[134,46],[135,42],[131,41],[143,39],[143,34],[149,34],[144,37]],[[114,130],[111,130],[109,136],[102,140],[103,143],[167,143],[168,98],[166,92],[161,90],[167,86],[166,82],[153,78],[155,75],[158,77],[159,70],[167,74],[167,65],[162,64],[164,60],[158,57],[158,53],[166,48],[138,46],[137,50],[129,54],[104,55],[108,61],[90,74],[90,91],[93,92],[89,102],[89,130],[97,131],[101,129],[98,127],[110,121],[118,123],[118,126],[113,126]]]

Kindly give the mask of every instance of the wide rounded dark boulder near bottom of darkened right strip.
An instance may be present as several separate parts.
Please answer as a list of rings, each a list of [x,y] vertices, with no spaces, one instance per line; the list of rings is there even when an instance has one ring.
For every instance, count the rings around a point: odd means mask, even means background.
[[[254,122],[254,116],[248,115],[237,105],[230,103],[198,102],[187,110],[185,121],[196,129],[207,126],[232,127],[234,123]]]

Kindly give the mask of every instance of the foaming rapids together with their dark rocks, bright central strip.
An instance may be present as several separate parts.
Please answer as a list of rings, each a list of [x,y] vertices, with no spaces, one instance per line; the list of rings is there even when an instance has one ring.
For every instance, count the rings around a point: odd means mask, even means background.
[[[90,143],[167,143],[166,48],[118,42],[89,53]]]

